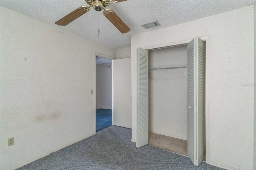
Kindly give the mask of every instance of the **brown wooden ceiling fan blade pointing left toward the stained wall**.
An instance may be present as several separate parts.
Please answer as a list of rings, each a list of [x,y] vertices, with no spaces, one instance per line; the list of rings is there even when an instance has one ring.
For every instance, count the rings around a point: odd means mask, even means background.
[[[88,6],[81,6],[74,10],[73,12],[69,13],[68,15],[64,16],[60,20],[56,21],[55,24],[59,26],[66,26],[70,22],[76,20],[80,16],[84,15],[86,12],[90,11],[90,7]]]

